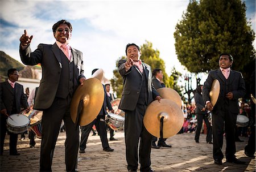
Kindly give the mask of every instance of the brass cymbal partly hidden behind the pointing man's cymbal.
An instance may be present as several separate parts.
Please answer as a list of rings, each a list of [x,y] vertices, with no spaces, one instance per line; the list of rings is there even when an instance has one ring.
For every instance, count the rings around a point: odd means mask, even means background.
[[[180,109],[182,108],[183,101],[180,98],[180,94],[177,93],[175,89],[163,87],[158,88],[156,91],[160,94],[162,98],[172,100],[180,107]]]

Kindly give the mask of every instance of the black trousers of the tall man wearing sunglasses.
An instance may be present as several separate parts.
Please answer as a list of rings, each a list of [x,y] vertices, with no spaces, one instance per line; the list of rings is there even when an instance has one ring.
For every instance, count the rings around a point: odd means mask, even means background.
[[[43,111],[40,171],[52,171],[52,158],[60,131],[61,121],[66,127],[65,164],[67,171],[75,171],[79,149],[79,127],[75,126],[70,115],[71,97],[56,97],[50,108]]]

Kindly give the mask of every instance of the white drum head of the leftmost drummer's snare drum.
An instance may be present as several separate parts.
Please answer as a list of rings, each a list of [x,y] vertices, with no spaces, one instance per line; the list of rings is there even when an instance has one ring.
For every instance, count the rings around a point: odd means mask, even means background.
[[[16,126],[16,127],[26,126],[29,123],[29,121],[30,120],[25,115],[22,115],[22,114],[13,114],[7,118],[7,123],[10,126]]]

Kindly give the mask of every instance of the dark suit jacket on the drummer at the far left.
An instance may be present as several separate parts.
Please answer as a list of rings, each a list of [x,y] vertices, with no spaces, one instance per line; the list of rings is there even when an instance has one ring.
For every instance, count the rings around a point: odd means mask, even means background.
[[[24,94],[23,86],[15,83],[15,89],[11,87],[8,81],[0,83],[1,85],[1,110],[6,109],[7,114],[11,115],[11,110],[13,109],[13,101],[16,103],[16,113],[20,112],[21,108],[26,109],[28,107],[27,104],[27,96]],[[13,100],[13,96],[15,94],[15,100]]]

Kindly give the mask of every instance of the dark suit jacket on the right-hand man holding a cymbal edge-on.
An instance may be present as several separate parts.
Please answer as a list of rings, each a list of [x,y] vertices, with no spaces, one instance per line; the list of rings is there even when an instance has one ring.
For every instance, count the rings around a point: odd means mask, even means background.
[[[204,103],[206,101],[210,101],[209,92],[214,79],[217,79],[220,82],[220,94],[218,96],[216,105],[214,106],[213,112],[215,110],[221,110],[223,108],[222,106],[226,106],[225,102],[228,102],[230,112],[238,114],[238,98],[245,96],[246,93],[245,81],[243,80],[241,72],[230,70],[229,92],[232,92],[234,97],[232,100],[228,100],[228,98],[225,97],[225,76],[222,74],[220,69],[210,71],[203,87]]]

